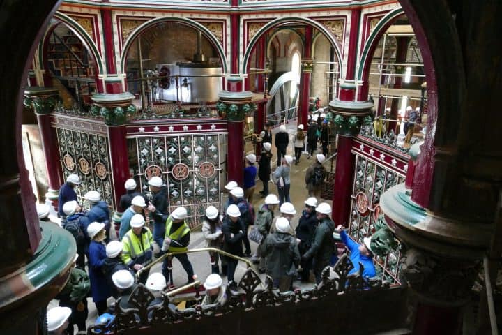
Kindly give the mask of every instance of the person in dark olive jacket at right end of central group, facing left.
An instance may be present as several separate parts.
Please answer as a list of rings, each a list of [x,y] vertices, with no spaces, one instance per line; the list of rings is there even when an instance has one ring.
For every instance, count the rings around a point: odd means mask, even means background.
[[[330,264],[331,255],[335,250],[335,240],[333,239],[333,230],[335,223],[331,220],[331,206],[326,202],[318,204],[316,207],[317,220],[319,225],[314,232],[312,246],[302,256],[302,260],[307,262],[310,258],[314,262],[314,275],[316,283],[321,283],[321,272]]]

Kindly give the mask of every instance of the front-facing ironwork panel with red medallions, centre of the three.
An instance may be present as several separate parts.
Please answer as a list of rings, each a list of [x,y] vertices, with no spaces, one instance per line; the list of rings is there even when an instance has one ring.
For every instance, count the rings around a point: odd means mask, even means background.
[[[162,177],[167,186],[169,212],[179,206],[185,207],[188,223],[194,228],[201,224],[201,217],[209,205],[220,208],[225,134],[159,135],[134,137],[128,141],[130,149],[136,152],[130,167],[142,190],[149,192],[151,177]]]

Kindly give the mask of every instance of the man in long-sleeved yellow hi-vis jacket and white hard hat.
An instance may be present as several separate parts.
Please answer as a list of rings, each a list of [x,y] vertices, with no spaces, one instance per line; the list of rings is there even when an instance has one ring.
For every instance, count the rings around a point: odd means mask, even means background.
[[[135,272],[149,265],[152,260],[153,235],[144,223],[144,217],[141,214],[133,215],[130,219],[131,229],[122,239],[122,261],[126,267]],[[148,275],[149,270],[142,271],[139,281],[145,283]]]

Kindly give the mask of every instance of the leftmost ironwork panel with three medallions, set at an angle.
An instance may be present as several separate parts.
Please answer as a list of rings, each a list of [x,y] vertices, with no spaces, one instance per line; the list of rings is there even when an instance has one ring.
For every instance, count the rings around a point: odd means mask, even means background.
[[[113,207],[112,176],[109,168],[107,137],[92,133],[56,128],[63,177],[78,174],[82,183],[75,188],[79,203],[87,191],[96,190]]]

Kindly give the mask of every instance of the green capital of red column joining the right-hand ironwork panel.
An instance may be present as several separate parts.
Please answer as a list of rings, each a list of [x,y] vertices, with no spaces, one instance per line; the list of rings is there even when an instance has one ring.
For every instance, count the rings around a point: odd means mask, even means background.
[[[372,101],[340,101],[329,103],[333,113],[333,123],[340,135],[356,136],[363,125],[371,124]]]

